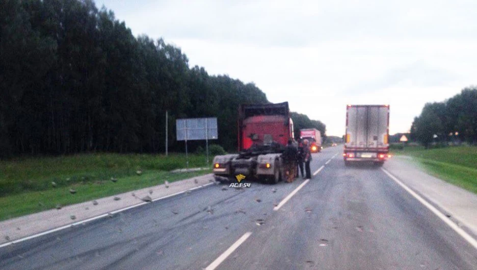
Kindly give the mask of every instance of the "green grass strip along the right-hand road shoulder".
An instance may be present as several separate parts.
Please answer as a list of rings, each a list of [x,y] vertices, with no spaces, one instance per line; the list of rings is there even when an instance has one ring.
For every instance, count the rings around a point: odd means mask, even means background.
[[[405,147],[394,154],[415,157],[432,175],[477,194],[477,147]]]

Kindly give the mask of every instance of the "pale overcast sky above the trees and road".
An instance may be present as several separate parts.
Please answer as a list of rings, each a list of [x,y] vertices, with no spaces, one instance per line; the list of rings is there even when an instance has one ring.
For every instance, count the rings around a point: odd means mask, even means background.
[[[477,84],[477,1],[96,0],[190,66],[253,82],[345,133],[346,104],[390,104],[390,133]]]

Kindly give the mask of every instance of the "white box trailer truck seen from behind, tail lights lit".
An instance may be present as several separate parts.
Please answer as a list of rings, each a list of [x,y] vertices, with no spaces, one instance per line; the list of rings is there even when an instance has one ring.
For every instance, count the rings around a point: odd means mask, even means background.
[[[383,165],[389,153],[389,105],[347,105],[343,159]]]

